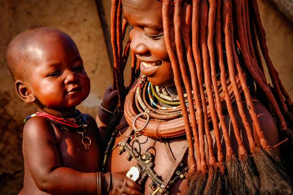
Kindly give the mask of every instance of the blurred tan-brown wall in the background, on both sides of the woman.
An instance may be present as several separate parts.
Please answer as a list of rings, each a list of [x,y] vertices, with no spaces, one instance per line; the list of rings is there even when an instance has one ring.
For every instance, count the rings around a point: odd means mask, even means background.
[[[109,25],[111,1],[98,1],[103,4]],[[267,1],[258,2],[270,56],[286,89],[293,96],[293,26]],[[71,36],[79,48],[92,85],[89,97],[78,109],[95,116],[103,91],[111,84],[112,78],[97,10],[94,0],[0,1],[0,194],[17,194],[22,187],[22,121],[34,112],[34,106],[21,102],[14,91],[5,62],[9,41],[32,25],[56,27]]]

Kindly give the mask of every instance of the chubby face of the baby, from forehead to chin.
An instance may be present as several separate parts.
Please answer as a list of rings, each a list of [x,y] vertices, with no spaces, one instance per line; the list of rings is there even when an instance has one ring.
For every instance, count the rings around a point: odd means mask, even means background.
[[[89,95],[90,79],[69,37],[36,38],[27,48],[27,60],[26,80],[41,105],[56,110],[74,108]]]

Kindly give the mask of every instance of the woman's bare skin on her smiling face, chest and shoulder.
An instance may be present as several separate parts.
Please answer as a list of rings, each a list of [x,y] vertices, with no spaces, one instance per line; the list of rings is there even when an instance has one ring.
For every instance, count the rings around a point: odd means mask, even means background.
[[[174,87],[174,76],[164,39],[162,1],[122,0],[122,7],[124,19],[126,19],[128,23],[131,25],[131,30],[129,33],[129,38],[131,40],[130,49],[131,52],[135,54],[136,58],[141,62],[140,72],[147,76],[148,81],[150,81],[153,85]],[[173,29],[171,29],[170,31],[172,32]],[[174,40],[171,41],[172,44],[174,44]],[[107,105],[105,104],[104,106],[106,107]],[[279,137],[274,119],[270,115],[269,111],[257,100],[254,100],[254,106],[256,114],[258,115],[260,127],[262,128],[262,131],[264,132],[266,139],[268,139],[268,142],[271,146],[276,145],[279,142]],[[243,107],[246,108],[245,103]],[[242,123],[242,118],[238,113],[238,107],[236,104],[234,104],[233,106],[233,112],[235,113],[238,126],[242,134],[244,145],[245,147],[249,148],[247,136],[245,133],[246,131]],[[251,128],[253,128],[248,110],[246,110],[245,112],[247,118],[249,119],[250,126]],[[230,122],[230,116],[227,113],[225,113],[224,120],[226,126],[229,127],[231,130],[233,127]],[[121,124],[124,122],[126,122],[125,119],[121,121]],[[131,131],[131,129],[132,126],[130,124],[129,131]],[[210,126],[210,129],[211,136],[215,144],[215,136],[212,124]],[[114,145],[119,144],[124,139],[124,137],[128,135],[129,131],[127,130],[127,128],[122,129],[120,131],[121,135],[119,133],[117,134]],[[238,144],[235,136],[231,134],[233,132],[234,131],[232,130],[230,131],[231,144],[232,148],[235,150],[236,155],[238,156]],[[220,133],[222,133],[221,128]],[[222,137],[223,136],[221,135],[223,149],[225,149],[225,143]],[[257,139],[257,135],[255,133],[254,137],[257,144],[260,145]],[[170,148],[174,155],[174,158],[178,159],[179,156],[182,156],[182,148],[187,145],[186,138],[182,137],[168,139],[167,141],[170,144]],[[131,141],[131,143],[132,142],[133,140]],[[154,170],[164,180],[169,171],[174,168],[174,164],[171,162],[165,146],[166,140],[153,140],[145,136],[139,136],[139,142],[141,143],[141,154],[145,151],[150,151],[155,155]],[[134,147],[138,150],[137,146]],[[206,153],[207,148],[208,146],[206,143]],[[278,148],[275,149],[276,153],[278,153]],[[215,155],[216,153],[217,151],[215,151]],[[109,157],[109,170],[124,170],[127,172],[128,170],[130,170],[131,167],[136,166],[137,161],[135,159],[131,159],[130,161],[127,160],[128,154],[129,153],[126,151],[122,154],[119,154],[119,149],[116,148],[112,152],[112,155]],[[208,154],[206,156],[208,156]],[[183,161],[186,165],[189,165],[188,153],[184,156]],[[144,184],[144,194],[150,194],[154,192],[154,190],[152,190],[149,187],[151,182],[151,179],[148,178],[146,183]],[[169,194],[186,194],[187,190],[187,180],[179,179],[171,186],[171,189],[168,191]]]

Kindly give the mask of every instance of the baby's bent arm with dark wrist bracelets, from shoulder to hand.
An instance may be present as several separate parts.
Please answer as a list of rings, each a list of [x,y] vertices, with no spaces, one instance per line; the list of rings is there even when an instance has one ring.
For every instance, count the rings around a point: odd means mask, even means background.
[[[40,190],[50,194],[97,194],[96,173],[81,173],[63,167],[53,128],[45,118],[36,116],[25,124],[23,156],[25,165]],[[108,176],[103,174],[104,192]],[[112,191],[115,194],[141,194],[137,191],[141,188],[123,174],[113,173],[112,180]]]

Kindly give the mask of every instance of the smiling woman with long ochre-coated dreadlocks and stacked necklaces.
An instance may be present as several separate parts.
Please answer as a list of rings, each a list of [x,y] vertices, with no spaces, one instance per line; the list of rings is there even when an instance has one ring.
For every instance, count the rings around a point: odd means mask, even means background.
[[[292,192],[278,157],[290,147],[281,141],[291,137],[284,117],[290,121],[292,102],[268,56],[256,1],[112,0],[111,25],[114,89],[129,125],[122,119],[108,143],[106,158],[118,148],[111,171],[128,172],[145,194]],[[131,81],[142,75],[125,98],[129,48]]]

